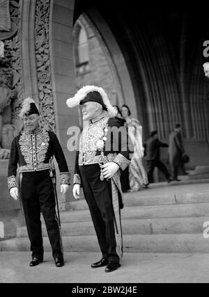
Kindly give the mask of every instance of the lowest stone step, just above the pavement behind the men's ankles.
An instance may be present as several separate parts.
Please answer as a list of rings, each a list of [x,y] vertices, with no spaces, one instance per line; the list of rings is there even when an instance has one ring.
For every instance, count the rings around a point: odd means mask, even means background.
[[[45,251],[52,251],[44,237]],[[29,251],[27,238],[0,241],[1,251]],[[65,252],[99,252],[96,236],[63,236]],[[203,234],[135,234],[123,236],[123,252],[203,252],[208,253],[209,239]]]

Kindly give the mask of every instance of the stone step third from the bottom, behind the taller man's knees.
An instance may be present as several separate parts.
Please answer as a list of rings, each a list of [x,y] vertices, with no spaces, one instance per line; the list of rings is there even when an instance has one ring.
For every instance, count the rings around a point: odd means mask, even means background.
[[[88,222],[91,220],[89,211],[63,211],[61,212],[61,222]],[[141,207],[124,207],[121,210],[122,219],[139,218],[184,218],[209,216],[209,203],[186,203],[150,205]]]

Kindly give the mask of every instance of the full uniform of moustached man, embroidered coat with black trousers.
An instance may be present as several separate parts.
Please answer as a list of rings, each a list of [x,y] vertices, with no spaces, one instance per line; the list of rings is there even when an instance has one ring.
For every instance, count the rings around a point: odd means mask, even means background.
[[[108,257],[109,261],[112,259],[114,262],[119,262],[123,255],[120,213],[123,193],[120,174],[130,164],[132,150],[129,149],[125,127],[121,127],[116,118],[107,118],[101,114],[84,127],[75,160],[73,182],[84,188],[102,257]],[[107,162],[117,163],[121,170],[117,170],[109,180],[100,179],[98,163]]]

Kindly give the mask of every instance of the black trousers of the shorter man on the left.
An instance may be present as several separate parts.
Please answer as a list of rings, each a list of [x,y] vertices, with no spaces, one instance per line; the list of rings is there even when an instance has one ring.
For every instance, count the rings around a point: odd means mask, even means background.
[[[26,228],[31,241],[32,257],[43,258],[40,212],[45,220],[54,259],[63,257],[61,234],[55,210],[56,202],[49,170],[22,172],[21,196]]]

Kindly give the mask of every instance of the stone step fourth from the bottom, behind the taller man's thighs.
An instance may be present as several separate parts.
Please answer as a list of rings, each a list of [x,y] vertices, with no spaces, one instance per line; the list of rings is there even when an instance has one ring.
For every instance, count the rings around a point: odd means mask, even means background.
[[[125,207],[164,205],[164,204],[185,204],[209,202],[209,191],[203,193],[176,193],[167,195],[145,195],[140,193],[128,193],[123,200]],[[88,209],[86,200],[68,202],[69,210]]]

